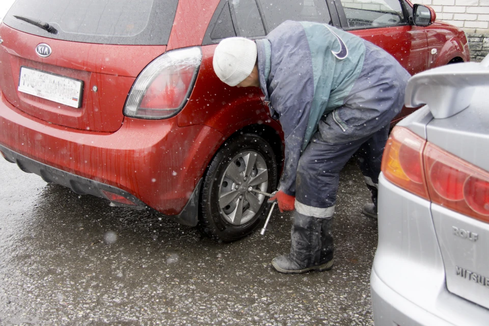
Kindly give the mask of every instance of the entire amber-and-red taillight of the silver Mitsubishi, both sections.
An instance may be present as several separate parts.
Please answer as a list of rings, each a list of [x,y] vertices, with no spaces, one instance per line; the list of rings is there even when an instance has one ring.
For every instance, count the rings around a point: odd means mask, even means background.
[[[433,203],[489,222],[489,173],[395,127],[382,158],[386,179]]]

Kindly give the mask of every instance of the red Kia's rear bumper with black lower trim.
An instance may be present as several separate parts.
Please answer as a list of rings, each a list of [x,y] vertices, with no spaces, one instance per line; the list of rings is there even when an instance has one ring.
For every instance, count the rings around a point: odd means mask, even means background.
[[[66,128],[0,98],[0,145],[8,160],[76,193],[107,198],[105,190],[166,215],[187,205],[223,138],[203,125],[178,127],[176,117],[125,118],[111,133]]]

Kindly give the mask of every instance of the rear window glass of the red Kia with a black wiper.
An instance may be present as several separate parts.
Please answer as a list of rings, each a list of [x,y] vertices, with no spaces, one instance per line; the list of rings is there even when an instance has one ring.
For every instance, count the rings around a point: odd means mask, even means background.
[[[3,22],[16,30],[53,39],[166,45],[177,4],[178,0],[17,0]],[[48,23],[57,33],[49,33],[25,18]]]

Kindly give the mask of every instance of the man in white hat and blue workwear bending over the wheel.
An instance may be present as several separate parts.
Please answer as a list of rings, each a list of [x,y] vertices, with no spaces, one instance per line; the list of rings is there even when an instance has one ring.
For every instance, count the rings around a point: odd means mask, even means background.
[[[362,211],[376,218],[382,152],[410,74],[355,35],[295,21],[265,39],[224,39],[213,67],[229,86],[259,87],[284,131],[284,169],[271,200],[280,211],[295,211],[290,253],[273,267],[286,274],[331,269],[340,171],[357,154],[372,194]]]

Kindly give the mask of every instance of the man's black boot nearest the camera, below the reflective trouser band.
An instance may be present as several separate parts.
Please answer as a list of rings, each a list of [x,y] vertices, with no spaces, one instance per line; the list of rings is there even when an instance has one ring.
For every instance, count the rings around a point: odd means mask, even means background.
[[[291,246],[288,255],[279,256],[271,265],[283,274],[301,274],[333,267],[333,218],[318,219],[294,212]]]

